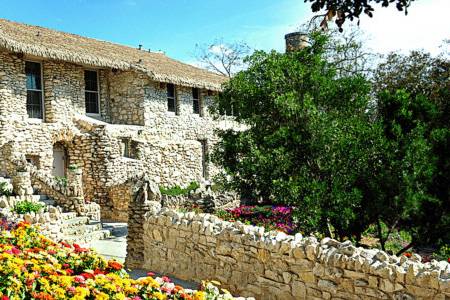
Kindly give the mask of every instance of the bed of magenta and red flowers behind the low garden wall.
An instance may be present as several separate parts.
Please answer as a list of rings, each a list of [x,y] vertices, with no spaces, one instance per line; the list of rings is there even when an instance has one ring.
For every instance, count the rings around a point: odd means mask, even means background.
[[[220,210],[216,215],[225,221],[240,221],[245,224],[264,227],[266,230],[279,230],[288,234],[299,228],[292,219],[292,208],[286,206],[248,206]]]

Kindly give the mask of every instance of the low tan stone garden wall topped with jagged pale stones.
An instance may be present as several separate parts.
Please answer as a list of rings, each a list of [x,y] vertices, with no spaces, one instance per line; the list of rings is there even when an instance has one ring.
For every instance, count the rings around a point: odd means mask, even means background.
[[[139,211],[137,211],[138,213]],[[142,253],[129,249],[127,263],[180,279],[216,279],[224,288],[256,299],[448,299],[450,265],[420,263],[380,250],[325,238],[264,232],[208,214],[150,209]],[[133,226],[133,224],[130,224]],[[133,236],[128,237],[133,240]],[[134,259],[140,257],[140,260]]]

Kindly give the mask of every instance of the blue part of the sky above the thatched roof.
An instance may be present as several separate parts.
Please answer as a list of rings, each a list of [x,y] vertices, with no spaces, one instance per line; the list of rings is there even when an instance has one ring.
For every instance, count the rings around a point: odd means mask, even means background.
[[[196,43],[218,38],[282,50],[284,30],[307,8],[299,0],[0,0],[0,17],[192,61]]]

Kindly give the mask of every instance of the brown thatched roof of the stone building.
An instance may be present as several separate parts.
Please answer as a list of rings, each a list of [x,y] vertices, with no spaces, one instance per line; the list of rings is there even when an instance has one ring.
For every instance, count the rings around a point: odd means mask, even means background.
[[[0,19],[0,48],[98,67],[136,70],[155,81],[220,90],[226,78],[148,52],[75,34]]]

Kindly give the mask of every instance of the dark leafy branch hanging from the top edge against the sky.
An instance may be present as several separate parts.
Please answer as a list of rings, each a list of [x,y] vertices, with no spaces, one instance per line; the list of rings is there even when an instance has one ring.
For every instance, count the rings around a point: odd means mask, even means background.
[[[359,18],[362,13],[373,16],[374,8],[373,4],[380,4],[383,7],[388,7],[389,4],[395,4],[395,7],[399,11],[404,11],[405,15],[408,14],[408,7],[414,0],[304,0],[304,2],[310,2],[311,10],[313,12],[319,12],[325,10],[325,13],[316,17],[323,17],[321,26],[327,28],[327,22],[335,18],[335,23],[339,27],[339,31],[342,31],[342,25],[347,19],[353,21],[355,18]],[[358,21],[359,23],[359,21]]]

